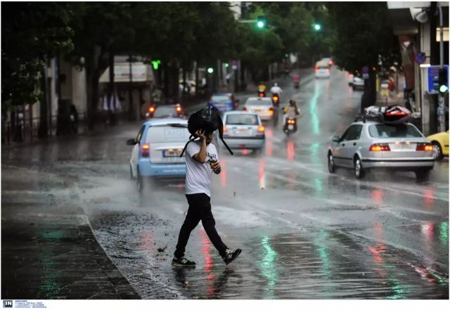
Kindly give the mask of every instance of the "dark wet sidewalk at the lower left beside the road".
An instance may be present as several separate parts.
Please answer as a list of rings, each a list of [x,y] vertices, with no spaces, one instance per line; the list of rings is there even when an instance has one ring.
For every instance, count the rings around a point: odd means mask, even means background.
[[[2,162],[1,299],[140,299],[71,188],[54,174]]]

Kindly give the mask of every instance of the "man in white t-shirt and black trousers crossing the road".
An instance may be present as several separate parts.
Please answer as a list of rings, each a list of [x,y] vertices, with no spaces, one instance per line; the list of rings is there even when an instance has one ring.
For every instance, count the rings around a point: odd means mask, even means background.
[[[184,257],[191,231],[202,221],[203,228],[214,247],[224,259],[225,264],[239,256],[242,250],[230,250],[217,233],[214,217],[211,212],[211,179],[212,172],[220,174],[221,167],[217,149],[212,144],[212,132],[196,131],[200,141],[193,141],[186,147],[186,198],[188,200],[188,214],[181,226],[178,243],[172,266],[195,267],[195,262]]]

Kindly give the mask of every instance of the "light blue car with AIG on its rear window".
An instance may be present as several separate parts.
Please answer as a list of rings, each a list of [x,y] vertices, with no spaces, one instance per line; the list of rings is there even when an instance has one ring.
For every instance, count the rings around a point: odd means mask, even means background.
[[[186,160],[180,154],[190,135],[188,121],[179,118],[149,120],[142,124],[136,139],[127,141],[127,145],[134,146],[129,167],[139,192],[148,179],[186,176]]]

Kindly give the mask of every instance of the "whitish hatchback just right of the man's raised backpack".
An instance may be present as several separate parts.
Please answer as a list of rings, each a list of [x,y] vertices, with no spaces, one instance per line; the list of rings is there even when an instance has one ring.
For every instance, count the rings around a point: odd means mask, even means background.
[[[222,120],[224,140],[230,148],[257,151],[264,148],[266,136],[259,115],[244,111],[225,112]]]

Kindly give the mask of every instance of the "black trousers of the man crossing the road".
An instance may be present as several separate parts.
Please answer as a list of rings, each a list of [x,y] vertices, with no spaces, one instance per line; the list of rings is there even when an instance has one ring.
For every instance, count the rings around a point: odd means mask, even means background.
[[[228,248],[222,242],[219,234],[216,231],[214,217],[211,212],[210,197],[206,194],[192,194],[186,195],[188,198],[188,214],[184,220],[183,226],[181,226],[180,234],[178,237],[178,243],[176,244],[175,257],[181,258],[184,256],[184,250],[188,244],[189,235],[191,231],[198,225],[201,220],[203,228],[205,228],[206,234],[210,238],[212,244],[219,251],[221,257],[224,257]]]

